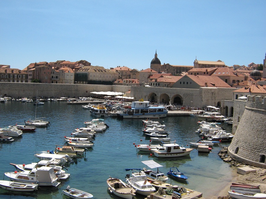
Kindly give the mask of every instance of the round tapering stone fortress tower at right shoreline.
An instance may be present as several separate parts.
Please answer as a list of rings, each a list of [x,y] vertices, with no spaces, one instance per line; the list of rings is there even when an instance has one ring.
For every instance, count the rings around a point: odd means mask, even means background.
[[[266,97],[247,96],[228,155],[247,165],[266,168]]]

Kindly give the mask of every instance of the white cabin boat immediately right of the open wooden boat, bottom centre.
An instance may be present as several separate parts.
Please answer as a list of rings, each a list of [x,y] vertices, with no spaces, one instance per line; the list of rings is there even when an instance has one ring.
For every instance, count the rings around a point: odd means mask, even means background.
[[[136,190],[136,193],[141,195],[150,195],[156,191],[144,173],[138,172],[132,173],[131,175],[132,176],[130,177],[130,174],[126,174],[126,181],[129,186]]]

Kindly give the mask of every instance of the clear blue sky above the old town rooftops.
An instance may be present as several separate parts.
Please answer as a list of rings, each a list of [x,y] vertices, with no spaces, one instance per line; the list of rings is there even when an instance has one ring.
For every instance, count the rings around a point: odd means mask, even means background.
[[[263,63],[266,1],[0,1],[0,64],[87,60],[150,68]]]

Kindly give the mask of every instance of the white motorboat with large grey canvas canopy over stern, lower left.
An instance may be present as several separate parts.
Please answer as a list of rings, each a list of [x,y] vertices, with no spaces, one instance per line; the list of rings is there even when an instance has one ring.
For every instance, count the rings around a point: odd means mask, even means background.
[[[52,167],[40,167],[30,171],[6,172],[5,176],[14,182],[35,183],[39,186],[57,187],[60,182]]]

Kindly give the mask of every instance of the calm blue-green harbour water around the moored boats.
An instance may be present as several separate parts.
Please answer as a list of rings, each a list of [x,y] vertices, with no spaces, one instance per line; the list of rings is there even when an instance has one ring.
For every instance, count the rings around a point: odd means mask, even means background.
[[[24,120],[35,118],[33,103],[8,101],[0,103],[0,127],[23,124]],[[70,136],[75,128],[85,127],[83,122],[94,119],[88,109],[81,105],[68,105],[65,102],[45,101],[37,108],[37,118],[45,117],[51,125],[47,128],[38,127],[34,133],[24,133],[21,138],[14,138],[12,143],[0,144],[1,166],[0,174],[4,180],[4,172],[13,172],[14,167],[9,163],[30,164],[38,162],[33,155],[35,152],[54,150],[56,145],[64,144],[64,136]],[[198,128],[197,118],[191,116],[166,117],[160,119],[170,136],[177,144],[186,146],[189,142],[199,139],[195,132]],[[210,198],[217,195],[223,184],[230,182],[232,168],[218,157],[222,147],[230,143],[214,146],[211,153],[198,153],[195,149],[190,156],[179,158],[157,158],[149,152],[137,152],[134,144],[148,144],[142,133],[141,119],[118,119],[106,117],[105,122],[110,126],[105,132],[99,132],[94,140],[94,147],[86,152],[85,157],[79,158],[68,166],[70,179],[62,181],[58,188],[39,187],[34,193],[19,193],[0,189],[0,198],[67,198],[62,190],[67,185],[94,195],[95,199],[118,198],[108,193],[106,180],[111,177],[125,179],[126,168],[146,167],[141,161],[154,160],[163,167],[160,171],[165,174],[170,167],[178,167],[188,176],[187,183],[169,179],[168,183],[184,186],[203,193]],[[222,124],[231,132],[231,126]],[[140,141],[142,139],[142,142]],[[189,147],[189,146],[187,146]],[[229,176],[229,177],[228,177]],[[137,195],[137,198],[145,197]]]

